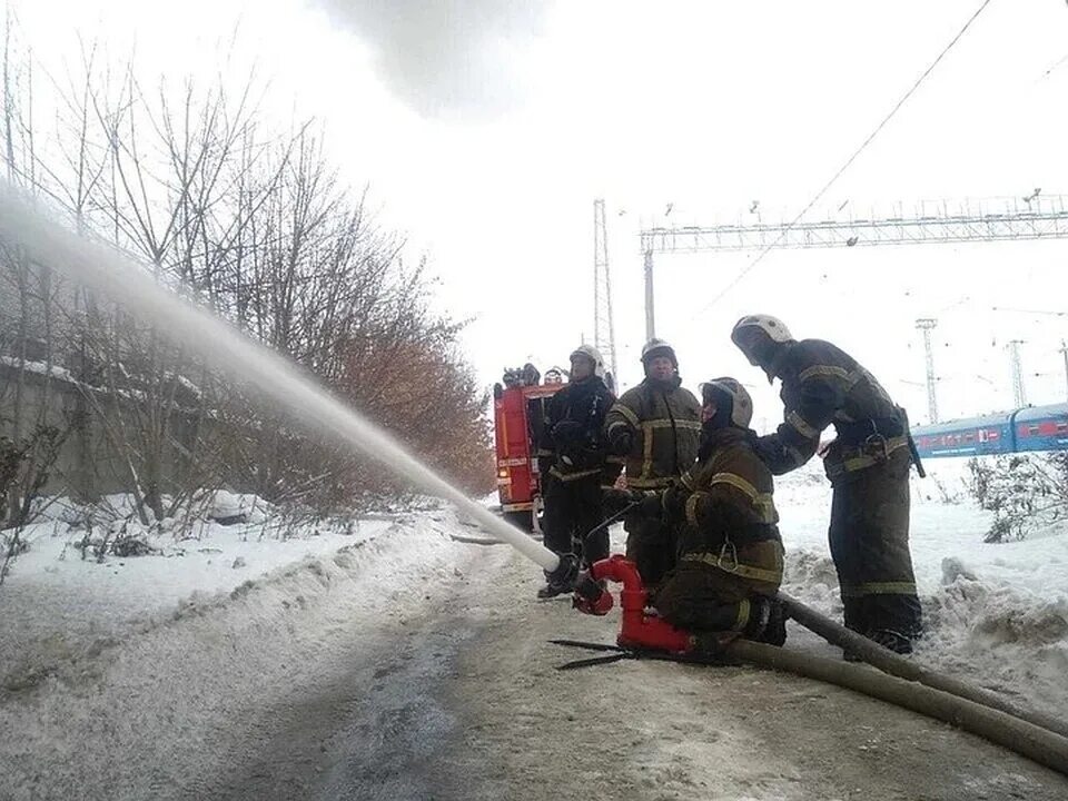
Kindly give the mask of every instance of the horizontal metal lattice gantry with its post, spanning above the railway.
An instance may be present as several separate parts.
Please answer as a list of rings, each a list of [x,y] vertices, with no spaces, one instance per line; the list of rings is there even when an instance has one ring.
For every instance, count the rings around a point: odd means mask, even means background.
[[[931,245],[963,241],[1068,239],[1068,197],[1031,195],[1027,198],[921,202],[906,214],[898,205],[893,216],[873,210],[858,216],[814,221],[730,222],[713,226],[656,226],[641,231],[645,267],[645,335],[654,335],[653,255],[706,250],[764,250],[775,248],[870,247]]]

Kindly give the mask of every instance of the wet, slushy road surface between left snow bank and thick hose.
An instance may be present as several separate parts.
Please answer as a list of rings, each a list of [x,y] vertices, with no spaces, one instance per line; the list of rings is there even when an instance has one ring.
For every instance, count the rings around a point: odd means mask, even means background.
[[[360,643],[347,671],[271,715],[210,797],[1068,795],[1068,780],[979,739],[792,676],[664,663],[558,673],[584,654],[545,640],[609,641],[611,624],[532,603],[525,562],[479,555],[451,597]]]

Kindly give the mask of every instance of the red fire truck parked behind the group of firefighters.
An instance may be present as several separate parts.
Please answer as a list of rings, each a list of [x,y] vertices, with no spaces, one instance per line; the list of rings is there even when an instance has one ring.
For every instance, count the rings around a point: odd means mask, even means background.
[[[563,384],[541,384],[533,365],[510,369],[493,388],[493,419],[497,448],[497,494],[504,518],[526,531],[537,531],[541,476],[537,441],[545,422],[545,400]]]

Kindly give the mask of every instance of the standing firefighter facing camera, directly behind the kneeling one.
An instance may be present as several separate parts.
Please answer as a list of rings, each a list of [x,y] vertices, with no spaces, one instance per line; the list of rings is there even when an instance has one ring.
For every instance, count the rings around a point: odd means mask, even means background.
[[[679,377],[679,359],[663,339],[642,348],[645,379],[609,411],[609,449],[624,461],[629,490],[662,491],[692,465],[701,436],[701,404]],[[613,503],[617,503],[617,500]],[[654,592],[674,564],[672,530],[663,521],[629,515],[626,557]]]

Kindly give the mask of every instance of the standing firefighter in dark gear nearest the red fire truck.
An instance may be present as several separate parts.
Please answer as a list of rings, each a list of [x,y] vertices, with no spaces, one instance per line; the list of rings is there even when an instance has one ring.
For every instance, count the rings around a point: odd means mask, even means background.
[[[545,426],[538,451],[545,547],[575,553],[591,564],[609,555],[609,533],[585,534],[604,521],[602,484],[611,486],[620,467],[606,464],[604,419],[615,396],[604,384],[604,362],[592,345],[571,354],[571,377],[545,405]],[[546,575],[537,596],[571,592],[571,583]]]

